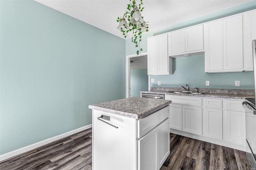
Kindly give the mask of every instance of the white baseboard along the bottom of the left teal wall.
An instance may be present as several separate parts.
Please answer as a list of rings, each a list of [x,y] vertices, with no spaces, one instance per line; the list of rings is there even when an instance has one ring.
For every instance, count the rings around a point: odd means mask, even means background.
[[[91,128],[91,127],[92,127],[92,124],[84,126],[84,127],[80,127],[80,128],[75,129],[75,130],[71,130],[69,132],[66,132],[66,133],[54,136],[52,138],[48,138],[46,140],[42,140],[40,142],[37,142],[37,143],[31,144],[31,145],[25,146],[23,148],[14,150],[12,152],[8,152],[6,154],[2,154],[2,155],[0,155],[0,161],[6,160],[8,158],[12,158],[13,156],[17,156],[17,155],[22,154],[24,152],[28,152],[28,151],[30,151],[32,149],[38,148],[38,147],[43,146],[45,144],[54,142],[56,140],[59,140],[61,138],[67,137],[67,136],[70,136],[72,134],[81,132],[81,131],[86,130],[86,129]]]

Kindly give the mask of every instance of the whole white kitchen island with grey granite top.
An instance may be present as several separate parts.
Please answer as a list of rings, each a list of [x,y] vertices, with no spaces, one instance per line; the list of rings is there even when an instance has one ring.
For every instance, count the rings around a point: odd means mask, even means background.
[[[92,111],[92,168],[160,169],[170,153],[171,101],[132,97]]]

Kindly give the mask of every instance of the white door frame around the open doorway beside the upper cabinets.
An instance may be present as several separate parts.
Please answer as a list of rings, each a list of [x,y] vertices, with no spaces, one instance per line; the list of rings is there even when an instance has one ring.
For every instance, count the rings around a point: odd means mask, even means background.
[[[126,55],[126,98],[130,97],[130,58],[148,55],[147,52],[132,55]],[[148,75],[148,90],[150,90],[150,75]]]

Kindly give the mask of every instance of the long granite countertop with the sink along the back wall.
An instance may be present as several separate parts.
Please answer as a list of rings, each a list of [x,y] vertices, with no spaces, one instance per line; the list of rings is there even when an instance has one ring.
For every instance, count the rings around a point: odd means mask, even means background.
[[[224,99],[241,99],[255,98],[255,95],[251,94],[232,94],[232,93],[208,93],[202,95],[195,95],[190,93],[170,93],[168,91],[141,91],[140,93],[162,94],[162,95],[180,95],[180,96],[193,96],[193,97],[212,97],[212,98],[224,98]]]

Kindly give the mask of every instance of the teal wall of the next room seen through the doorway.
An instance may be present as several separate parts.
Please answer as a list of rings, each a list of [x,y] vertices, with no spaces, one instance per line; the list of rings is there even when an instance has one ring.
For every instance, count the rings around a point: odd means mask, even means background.
[[[148,91],[148,69],[130,70],[130,96],[140,97],[140,91]]]

